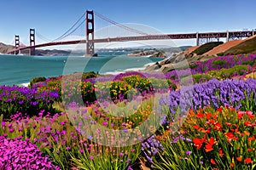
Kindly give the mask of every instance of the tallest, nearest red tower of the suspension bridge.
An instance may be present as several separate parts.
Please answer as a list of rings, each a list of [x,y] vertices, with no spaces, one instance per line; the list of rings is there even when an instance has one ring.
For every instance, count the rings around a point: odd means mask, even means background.
[[[85,35],[86,35],[86,55],[92,56],[94,54],[94,14],[93,10],[86,11],[85,14]]]

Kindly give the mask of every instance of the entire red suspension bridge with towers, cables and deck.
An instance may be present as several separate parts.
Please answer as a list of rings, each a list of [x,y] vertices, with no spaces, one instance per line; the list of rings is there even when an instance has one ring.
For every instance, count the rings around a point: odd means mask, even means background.
[[[136,33],[136,36],[126,36],[126,37],[105,37],[105,38],[95,38],[95,15],[102,20],[107,21],[113,26],[119,26],[119,28],[125,29],[125,31],[130,31]],[[78,30],[80,26],[83,26],[85,23],[85,38],[78,40],[63,40],[66,37],[73,34],[74,31]],[[30,55],[35,55],[36,48],[43,48],[55,45],[68,45],[68,44],[86,44],[86,54],[93,55],[95,54],[95,43],[96,42],[128,42],[128,41],[143,41],[143,40],[164,40],[164,39],[195,39],[196,45],[203,44],[205,42],[219,41],[220,38],[226,38],[226,41],[233,39],[241,39],[242,37],[251,37],[256,34],[256,31],[223,31],[223,32],[203,32],[203,33],[184,33],[184,34],[148,34],[147,32],[139,31],[133,29],[129,26],[119,24],[113,20],[108,19],[102,14],[98,14],[94,11],[87,10],[79,20],[61,37],[58,37],[54,41],[44,42],[41,44],[36,44],[35,29],[30,29],[30,45],[25,46],[20,43],[20,37],[15,35],[15,48],[7,52],[7,54],[19,54],[20,50],[29,49]],[[44,38],[42,35],[38,34],[38,37],[41,39]]]

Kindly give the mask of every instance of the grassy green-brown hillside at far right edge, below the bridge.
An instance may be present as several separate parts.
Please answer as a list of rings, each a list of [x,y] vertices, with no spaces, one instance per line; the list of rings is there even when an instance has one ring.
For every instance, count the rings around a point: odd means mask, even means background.
[[[224,51],[223,54],[256,54],[256,36],[247,38],[238,45]]]

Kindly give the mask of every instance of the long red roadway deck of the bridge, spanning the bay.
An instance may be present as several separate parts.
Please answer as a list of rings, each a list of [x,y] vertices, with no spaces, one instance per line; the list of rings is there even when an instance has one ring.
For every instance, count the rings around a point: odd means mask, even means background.
[[[189,34],[161,34],[161,35],[147,35],[147,36],[134,36],[134,37],[108,37],[90,40],[90,42],[128,42],[128,41],[142,41],[142,40],[162,40],[162,39],[192,39],[196,38],[236,38],[236,37],[251,37],[256,35],[256,31],[226,31],[226,32],[206,32],[206,33],[189,33]],[[20,48],[14,48],[10,50],[7,54],[14,53],[27,48],[42,48],[55,45],[68,45],[68,44],[78,44],[86,43],[85,39],[73,40],[65,42],[46,42],[34,46],[25,46]]]

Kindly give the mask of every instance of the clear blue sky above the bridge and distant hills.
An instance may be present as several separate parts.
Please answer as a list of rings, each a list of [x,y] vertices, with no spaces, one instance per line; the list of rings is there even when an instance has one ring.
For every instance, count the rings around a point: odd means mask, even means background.
[[[0,42],[12,44],[17,34],[28,43],[29,28],[53,40],[87,9],[161,33],[253,30],[255,6],[255,0],[1,0]],[[177,44],[195,45],[195,40]]]

